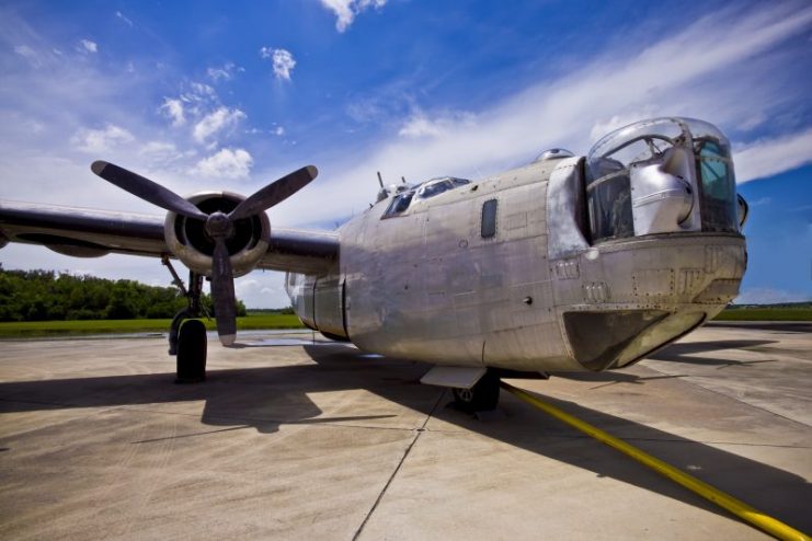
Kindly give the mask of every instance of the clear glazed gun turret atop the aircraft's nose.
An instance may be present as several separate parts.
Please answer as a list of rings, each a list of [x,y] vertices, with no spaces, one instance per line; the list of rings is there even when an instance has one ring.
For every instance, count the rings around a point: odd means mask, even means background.
[[[596,242],[740,230],[730,143],[694,118],[639,122],[597,141],[586,157],[586,194]]]

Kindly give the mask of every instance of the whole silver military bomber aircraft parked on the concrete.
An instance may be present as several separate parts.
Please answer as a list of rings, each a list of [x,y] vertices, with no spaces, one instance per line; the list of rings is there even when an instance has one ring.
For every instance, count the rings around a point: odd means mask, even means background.
[[[469,411],[493,408],[499,378],[624,368],[689,333],[737,293],[746,267],[730,143],[690,118],[642,120],[585,157],[562,149],[472,182],[384,186],[336,231],[271,228],[265,210],[312,165],[245,198],[183,198],[96,161],[92,171],[165,218],[0,202],[0,246],[180,260],[188,306],[170,330],[178,380],[205,379],[203,279],[221,343],[236,339],[233,278],[286,272],[296,313],[324,336],[425,361],[422,381]]]

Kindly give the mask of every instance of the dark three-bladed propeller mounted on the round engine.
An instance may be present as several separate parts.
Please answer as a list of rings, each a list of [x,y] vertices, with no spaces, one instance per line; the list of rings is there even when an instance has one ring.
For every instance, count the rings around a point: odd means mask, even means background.
[[[235,221],[264,212],[307,186],[319,174],[313,165],[307,165],[259,189],[230,212],[218,210],[208,215],[174,192],[113,163],[95,161],[90,169],[136,197],[186,218],[206,222],[206,233],[215,243],[211,255],[211,298],[215,303],[217,334],[224,346],[232,345],[237,336],[235,276],[227,245],[235,234]]]

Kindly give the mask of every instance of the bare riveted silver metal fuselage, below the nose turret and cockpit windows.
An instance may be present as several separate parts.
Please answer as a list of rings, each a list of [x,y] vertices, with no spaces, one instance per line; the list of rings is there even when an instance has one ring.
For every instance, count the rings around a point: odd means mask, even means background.
[[[737,295],[739,233],[588,242],[583,168],[583,158],[536,162],[382,219],[384,199],[340,229],[330,273],[288,275],[293,306],[365,350],[546,372],[627,366]],[[493,199],[496,231],[484,238]]]

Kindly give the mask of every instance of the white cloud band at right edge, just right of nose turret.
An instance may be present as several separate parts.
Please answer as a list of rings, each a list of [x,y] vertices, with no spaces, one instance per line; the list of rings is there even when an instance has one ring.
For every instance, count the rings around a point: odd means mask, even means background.
[[[765,179],[812,163],[812,128],[743,145],[740,150],[734,145],[733,149],[736,182],[741,184]]]

